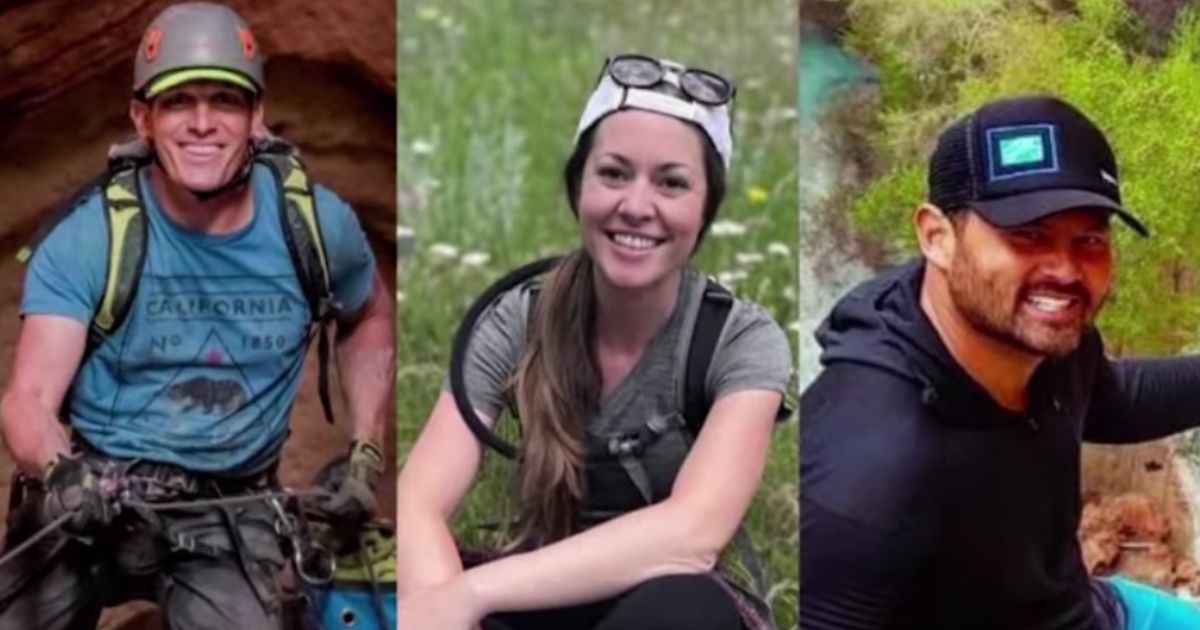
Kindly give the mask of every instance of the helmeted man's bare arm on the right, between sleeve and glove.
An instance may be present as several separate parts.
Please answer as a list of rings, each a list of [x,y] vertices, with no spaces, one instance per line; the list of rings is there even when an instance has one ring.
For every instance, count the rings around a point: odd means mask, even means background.
[[[383,282],[376,276],[362,316],[344,334],[338,332],[337,368],[342,392],[354,422],[354,437],[383,445],[391,418],[396,380],[395,310]]]

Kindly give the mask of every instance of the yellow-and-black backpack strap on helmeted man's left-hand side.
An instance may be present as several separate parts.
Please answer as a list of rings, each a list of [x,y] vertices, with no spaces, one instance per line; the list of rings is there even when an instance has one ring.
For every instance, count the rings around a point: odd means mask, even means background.
[[[146,218],[138,188],[138,169],[113,173],[104,184],[103,194],[108,269],[104,292],[89,331],[92,347],[120,328],[128,316],[146,254]]]

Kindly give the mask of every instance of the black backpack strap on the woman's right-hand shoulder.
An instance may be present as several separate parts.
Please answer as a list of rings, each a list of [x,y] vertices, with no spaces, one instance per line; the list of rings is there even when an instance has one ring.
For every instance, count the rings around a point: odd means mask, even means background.
[[[684,372],[684,412],[683,418],[688,431],[695,438],[708,416],[713,401],[704,391],[708,367],[716,352],[716,342],[725,330],[725,322],[733,307],[733,294],[713,278],[704,284],[704,295],[700,301],[700,312],[691,330],[691,342],[688,346],[688,362]]]

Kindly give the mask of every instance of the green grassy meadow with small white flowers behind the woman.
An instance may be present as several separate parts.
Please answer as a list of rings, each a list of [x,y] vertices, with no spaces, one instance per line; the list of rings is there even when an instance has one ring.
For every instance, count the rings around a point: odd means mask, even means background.
[[[400,270],[401,457],[439,392],[473,296],[506,270],[577,244],[559,174],[610,53],[667,56],[738,84],[730,194],[695,264],[796,336],[794,0],[401,6],[400,222],[416,234]],[[796,626],[798,457],[793,419],[776,432],[748,517],[784,629]],[[512,464],[487,460],[455,522],[462,540],[485,542],[481,526],[508,514]]]

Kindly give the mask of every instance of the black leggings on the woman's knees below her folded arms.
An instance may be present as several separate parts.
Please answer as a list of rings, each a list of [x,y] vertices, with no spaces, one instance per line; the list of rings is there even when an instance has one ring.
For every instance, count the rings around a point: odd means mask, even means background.
[[[708,575],[648,580],[606,600],[484,619],[484,630],[742,630],[730,594]]]

